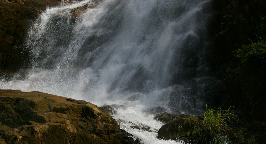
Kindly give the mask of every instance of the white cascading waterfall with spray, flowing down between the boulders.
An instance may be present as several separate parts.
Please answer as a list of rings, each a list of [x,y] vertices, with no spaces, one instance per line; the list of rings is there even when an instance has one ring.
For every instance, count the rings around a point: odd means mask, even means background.
[[[156,139],[163,124],[146,110],[199,113],[204,107],[198,83],[207,71],[207,2],[85,0],[48,8],[28,31],[32,68],[2,80],[0,88],[112,105],[121,128],[143,143],[176,143]],[[132,129],[129,121],[152,132]]]

